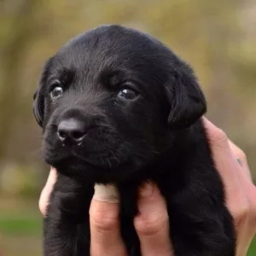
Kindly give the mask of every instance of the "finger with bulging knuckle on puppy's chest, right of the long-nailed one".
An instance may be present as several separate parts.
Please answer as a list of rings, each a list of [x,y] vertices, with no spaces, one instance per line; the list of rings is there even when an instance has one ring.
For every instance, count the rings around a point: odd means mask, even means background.
[[[155,185],[146,183],[138,199],[134,226],[143,256],[173,255],[166,201]]]

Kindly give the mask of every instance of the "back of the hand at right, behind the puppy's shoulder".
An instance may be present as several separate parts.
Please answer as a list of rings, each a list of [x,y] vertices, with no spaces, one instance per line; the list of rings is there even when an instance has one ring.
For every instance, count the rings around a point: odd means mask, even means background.
[[[227,207],[236,226],[236,256],[245,256],[256,233],[256,187],[246,154],[224,131],[203,118],[213,159],[225,187]]]

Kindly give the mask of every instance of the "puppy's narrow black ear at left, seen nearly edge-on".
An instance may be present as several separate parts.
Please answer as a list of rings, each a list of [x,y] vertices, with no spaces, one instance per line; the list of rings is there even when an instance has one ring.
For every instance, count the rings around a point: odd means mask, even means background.
[[[34,117],[38,122],[38,125],[41,127],[43,126],[44,122],[44,108],[45,108],[45,102],[44,102],[44,94],[42,94],[42,88],[46,84],[48,75],[49,75],[49,68],[51,66],[51,63],[53,61],[53,58],[49,58],[48,61],[44,64],[43,73],[41,74],[40,80],[39,80],[39,88],[35,91],[33,95],[33,113]]]

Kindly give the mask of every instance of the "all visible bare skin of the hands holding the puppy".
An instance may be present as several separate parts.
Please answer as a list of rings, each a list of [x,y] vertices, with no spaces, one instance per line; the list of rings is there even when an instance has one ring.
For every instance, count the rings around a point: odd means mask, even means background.
[[[245,256],[256,232],[256,187],[247,165],[246,154],[232,143],[224,131],[208,119],[203,118],[212,156],[220,173],[226,193],[226,204],[236,226],[236,256]],[[239,160],[238,160],[239,159]],[[48,180],[42,190],[39,208],[43,215],[57,172],[51,168]],[[119,201],[113,190],[101,191],[96,187],[90,205],[90,255],[126,256],[125,244],[119,230]],[[152,184],[141,188],[138,198],[140,214],[134,225],[141,243],[143,256],[173,256],[172,241],[169,240],[168,214],[165,199]],[[171,224],[172,232],[172,224]]]

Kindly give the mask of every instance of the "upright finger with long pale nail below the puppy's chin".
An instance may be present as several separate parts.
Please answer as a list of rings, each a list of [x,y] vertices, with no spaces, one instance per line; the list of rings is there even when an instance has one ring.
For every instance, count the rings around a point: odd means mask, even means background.
[[[125,256],[119,231],[118,195],[111,186],[97,185],[90,204],[90,255]]]

